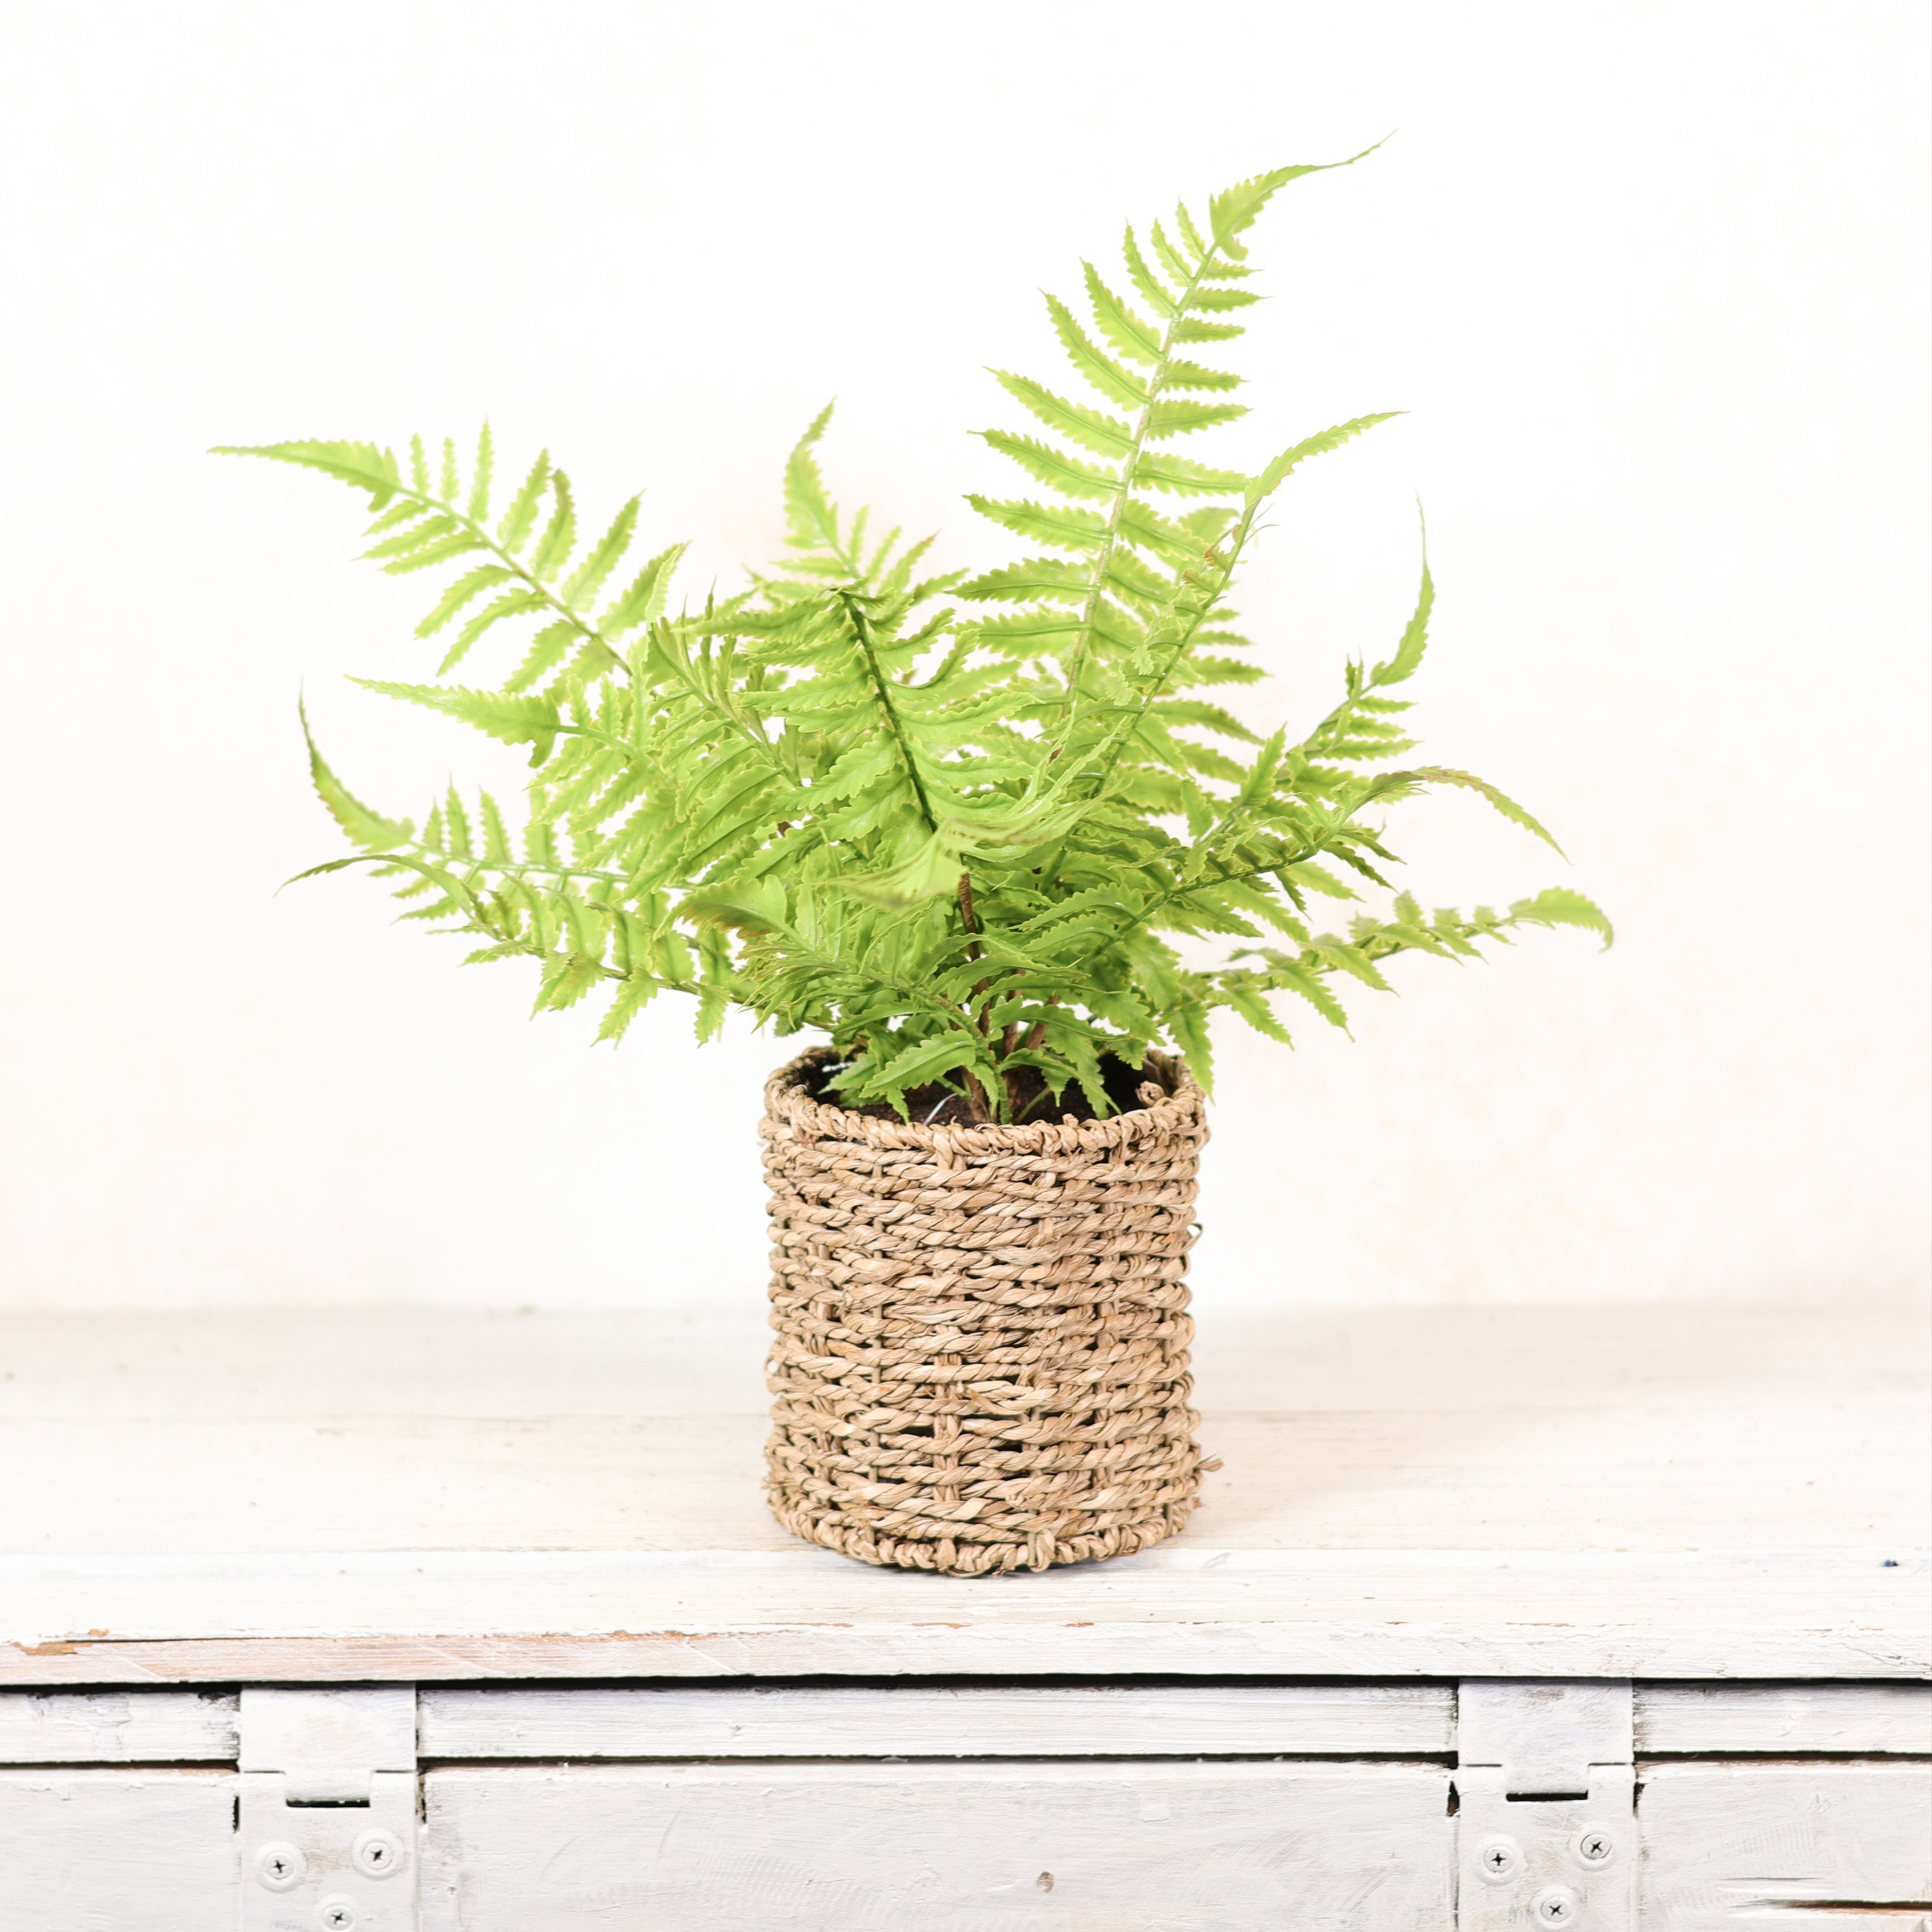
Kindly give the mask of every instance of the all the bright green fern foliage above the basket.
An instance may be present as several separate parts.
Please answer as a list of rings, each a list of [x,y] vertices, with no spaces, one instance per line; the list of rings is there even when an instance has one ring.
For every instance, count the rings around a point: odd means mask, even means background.
[[[1262,676],[1231,593],[1275,493],[1387,421],[1339,423],[1256,475],[1171,454],[1246,413],[1240,377],[1192,346],[1242,334],[1264,296],[1248,236],[1314,172],[1240,182],[1206,220],[1180,205],[1128,228],[1122,269],[1082,263],[1082,315],[1047,298],[1097,402],[993,373],[1026,433],[981,435],[1037,500],[968,498],[1028,541],[972,578],[935,570],[929,537],[873,535],[864,508],[838,506],[821,469],[831,406],[786,456],[782,558],[674,614],[682,547],[620,578],[636,497],[583,547],[545,452],[493,510],[487,425],[468,481],[446,439],[400,458],[373,442],[243,452],[361,491],[384,572],[452,566],[417,624],[448,639],[439,678],[504,641],[500,626],[520,638],[495,688],[357,682],[527,746],[522,837],[489,794],[456,788],[421,833],[383,817],[303,717],[317,794],[355,848],[313,871],[373,866],[406,920],[462,933],[468,958],[535,962],[537,1010],[601,999],[599,1039],[661,991],[696,1001],[701,1039],[732,1007],[821,1030],[840,1099],[900,1115],[935,1092],[987,1119],[1082,1094],[1105,1113],[1109,1055],[1138,1066],[1179,1047],[1206,1086],[1217,1010],[1293,1043],[1281,995],[1347,1028],[1337,987],[1389,991],[1406,952],[1468,960],[1532,925],[1607,945],[1578,893],[1424,912],[1391,883],[1381,821],[1432,786],[1548,838],[1488,781],[1401,763],[1408,703],[1389,694],[1428,649],[1426,554],[1393,655],[1349,663],[1341,701],[1298,742],[1200,696]],[[1321,898],[1349,906],[1347,933],[1312,929]],[[1219,964],[1192,964],[1209,943]]]

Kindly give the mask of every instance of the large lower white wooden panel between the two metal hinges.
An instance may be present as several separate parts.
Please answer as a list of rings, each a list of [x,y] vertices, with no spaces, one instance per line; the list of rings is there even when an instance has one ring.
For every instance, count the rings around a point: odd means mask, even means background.
[[[1356,1764],[425,1777],[425,1932],[1443,1932],[1449,1779]]]

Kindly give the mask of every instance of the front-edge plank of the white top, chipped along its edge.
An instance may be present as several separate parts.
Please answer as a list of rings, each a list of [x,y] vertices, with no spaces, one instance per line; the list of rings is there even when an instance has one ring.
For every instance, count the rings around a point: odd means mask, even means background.
[[[340,1681],[371,1640],[431,1681],[554,1675],[564,1658],[667,1677],[1913,1677],[1932,1667],[1924,1596],[1917,1565],[1843,1553],[1177,1544],[1003,1578],[796,1546],[6,1557],[0,1683]]]

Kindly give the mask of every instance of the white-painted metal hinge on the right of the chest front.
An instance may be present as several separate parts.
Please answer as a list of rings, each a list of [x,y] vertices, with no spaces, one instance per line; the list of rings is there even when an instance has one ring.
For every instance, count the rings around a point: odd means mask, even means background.
[[[1459,1932],[1631,1932],[1629,1683],[1464,1683],[1455,1789]]]

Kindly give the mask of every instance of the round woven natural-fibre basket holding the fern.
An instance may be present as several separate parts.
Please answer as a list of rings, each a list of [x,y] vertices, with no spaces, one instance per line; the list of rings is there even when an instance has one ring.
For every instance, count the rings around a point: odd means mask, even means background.
[[[908,1126],[765,1088],[771,1507],[864,1563],[978,1577],[1126,1555],[1194,1509],[1186,1256],[1208,1124]]]

